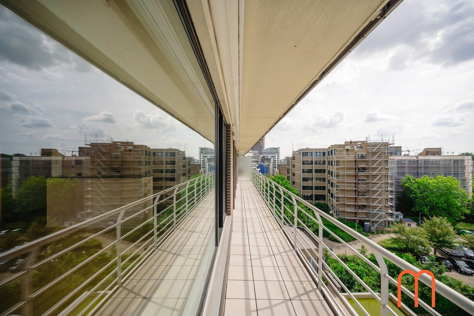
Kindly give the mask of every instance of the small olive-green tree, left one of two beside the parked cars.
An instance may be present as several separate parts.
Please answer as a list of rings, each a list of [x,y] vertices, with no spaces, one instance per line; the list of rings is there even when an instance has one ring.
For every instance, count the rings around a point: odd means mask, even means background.
[[[407,253],[419,254],[424,249],[429,249],[433,244],[428,240],[429,237],[421,227],[410,227],[396,223],[393,226],[393,232],[398,234],[393,241],[400,244]]]

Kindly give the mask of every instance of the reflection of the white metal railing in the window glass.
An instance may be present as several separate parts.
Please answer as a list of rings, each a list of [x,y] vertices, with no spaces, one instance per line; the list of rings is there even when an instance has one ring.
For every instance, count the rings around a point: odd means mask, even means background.
[[[0,280],[0,315],[93,315],[214,189],[214,178],[214,172],[209,172],[0,253],[0,262],[22,260],[18,270]],[[142,209],[133,212],[137,206]],[[150,210],[153,215],[148,216]],[[78,236],[80,240],[74,240]],[[78,264],[66,265],[62,273],[55,273],[65,256],[104,236],[109,244]],[[126,243],[131,237],[137,240]],[[73,242],[68,244],[68,240]],[[105,255],[112,259],[104,262]],[[73,283],[75,273],[85,273],[86,280]],[[55,288],[67,288],[62,286],[67,282],[74,284],[70,291]],[[8,294],[11,297],[5,296]]]

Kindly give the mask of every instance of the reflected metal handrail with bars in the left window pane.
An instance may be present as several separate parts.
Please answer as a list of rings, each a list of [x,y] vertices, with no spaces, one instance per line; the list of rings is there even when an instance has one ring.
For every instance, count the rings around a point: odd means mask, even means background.
[[[51,315],[58,313],[58,310],[68,312],[73,311],[79,305],[81,305],[89,295],[82,295],[80,298],[74,300],[72,304],[67,307],[61,308],[68,300],[74,298],[75,295],[78,295],[83,292],[83,289],[91,284],[91,281],[97,279],[97,277],[108,269],[111,269],[114,264],[116,267],[110,271],[107,276],[101,278],[97,284],[95,284],[92,289],[89,291],[91,292],[99,289],[109,278],[116,274],[115,278],[107,285],[105,289],[100,290],[100,295],[95,297],[85,308],[80,311],[79,315],[93,315],[95,311],[101,306],[103,302],[106,301],[110,295],[118,289],[122,282],[126,280],[131,273],[135,271],[137,266],[143,262],[149,254],[151,254],[154,250],[157,249],[158,245],[165,240],[167,236],[169,236],[173,230],[179,226],[182,221],[191,213],[191,211],[196,208],[199,203],[204,199],[214,188],[214,176],[215,172],[209,172],[199,177],[193,178],[191,180],[182,182],[178,185],[175,185],[171,188],[163,190],[161,192],[155,193],[150,195],[144,199],[137,200],[132,202],[128,205],[125,205],[120,208],[116,208],[111,210],[107,213],[101,214],[99,216],[93,217],[91,219],[85,220],[81,223],[75,224],[73,226],[66,227],[60,231],[52,233],[50,235],[46,235],[44,237],[38,238],[30,243],[23,244],[17,248],[13,248],[9,251],[4,253],[0,253],[0,262],[9,260],[11,258],[18,258],[20,256],[25,256],[26,263],[22,266],[21,271],[14,273],[13,275],[9,276],[8,278],[0,281],[0,287],[11,284],[14,281],[19,279],[22,280],[22,291],[21,291],[21,299],[18,302],[13,302],[13,306],[9,307],[6,310],[1,310],[0,315],[10,315],[19,310],[23,310],[23,315],[32,315],[33,314],[33,300],[38,298],[39,296],[43,295],[49,289],[56,286],[58,283],[66,279],[67,277],[73,275],[74,272],[80,270],[82,267],[86,266],[88,263],[92,262],[94,259],[98,258],[100,254],[105,253],[106,251],[110,251],[112,247],[115,246],[116,248],[116,255],[112,258],[111,261],[105,263],[103,266],[100,266],[100,270],[95,272],[91,277],[87,280],[82,282],[79,286],[73,289],[69,293],[64,293],[64,296],[59,298],[59,301],[55,302],[54,306],[48,307],[48,310],[43,315]],[[164,199],[160,198],[164,196],[166,193],[171,193],[170,196],[165,197]],[[185,196],[182,197],[181,195],[184,194]],[[178,195],[178,197],[177,197]],[[190,195],[192,195],[190,197]],[[172,199],[171,199],[172,198]],[[158,211],[158,205],[168,201],[171,205],[167,206]],[[127,213],[127,217],[124,217],[125,212],[130,210],[131,208],[136,207],[137,205],[141,205],[142,203],[150,203],[141,210],[134,212],[133,214]],[[180,203],[177,207],[176,205]],[[129,232],[122,235],[122,226],[128,220],[135,218],[135,217],[143,217],[148,210],[153,209],[153,217],[144,220],[142,223],[134,226]],[[162,214],[165,214],[166,211],[172,211],[172,214],[166,216],[160,223],[158,223],[158,217]],[[167,213],[166,213],[167,214]],[[67,235],[71,235],[74,232],[82,228],[91,228],[93,224],[100,223],[104,219],[113,218],[114,224],[108,227],[101,229],[99,232],[92,234],[91,236],[87,236],[82,238],[79,242],[68,246],[65,249],[58,250],[56,253],[42,259],[40,261],[37,260],[38,255],[40,254],[41,250],[44,249],[46,245],[58,240]],[[161,220],[161,219],[160,219]],[[138,229],[142,227],[146,227],[153,223],[153,229],[143,233],[143,235],[133,244],[129,245],[125,250],[121,249],[122,241],[127,236],[130,236]],[[116,238],[110,244],[106,245],[104,248],[100,249],[98,252],[92,254],[90,257],[86,258],[84,261],[80,262],[74,267],[71,267],[68,271],[65,271],[61,275],[52,276],[51,280],[48,280],[47,284],[41,285],[39,289],[35,291],[32,290],[31,286],[31,276],[32,272],[37,268],[46,265],[48,262],[52,262],[55,259],[61,257],[62,255],[69,253],[70,251],[74,250],[75,248],[81,246],[85,242],[97,237],[101,234],[107,234],[116,230]],[[161,234],[159,237],[158,235]],[[151,244],[150,244],[151,243]],[[137,250],[133,251],[134,247],[137,247]],[[146,248],[148,247],[148,248]],[[131,253],[128,258],[126,258],[122,262],[122,256],[127,254],[128,252]],[[133,253],[132,253],[133,252]],[[142,252],[137,258],[134,255],[137,255],[139,252]],[[128,263],[128,267],[122,271],[123,264]],[[105,296],[104,296],[105,295]],[[100,298],[103,298],[99,301]],[[93,308],[92,308],[93,307]]]

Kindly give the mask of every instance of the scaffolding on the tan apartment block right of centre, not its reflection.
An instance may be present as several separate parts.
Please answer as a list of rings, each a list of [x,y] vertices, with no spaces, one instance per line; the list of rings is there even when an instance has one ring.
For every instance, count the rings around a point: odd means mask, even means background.
[[[393,136],[385,140],[371,140],[369,136],[365,141],[330,147],[335,151],[332,166],[328,166],[328,176],[332,179],[330,198],[336,217],[362,219],[371,223],[372,230],[394,220],[388,158],[399,154],[401,149],[393,145]]]

